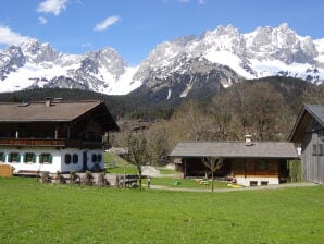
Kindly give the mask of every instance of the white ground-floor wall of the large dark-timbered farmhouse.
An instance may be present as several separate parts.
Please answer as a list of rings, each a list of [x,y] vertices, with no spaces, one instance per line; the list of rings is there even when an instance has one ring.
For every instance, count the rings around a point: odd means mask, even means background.
[[[78,149],[78,148],[67,148],[67,149],[57,149],[57,148],[21,148],[17,149],[16,147],[7,147],[7,148],[0,148],[0,152],[4,152],[5,155],[5,162],[0,163],[8,163],[15,168],[15,172],[18,172],[20,170],[28,170],[28,171],[49,171],[51,173],[55,173],[57,171],[60,172],[70,172],[70,171],[82,171],[83,170],[83,152],[87,151],[87,167],[88,169],[91,169],[94,167],[94,162],[91,162],[92,154],[100,154],[102,161],[99,163],[100,168],[104,168],[104,158],[103,158],[103,150],[102,149]],[[25,163],[23,162],[23,157],[20,157],[20,162],[8,162],[9,155],[11,152],[17,152],[21,156],[26,152],[33,152],[36,155],[36,163]],[[41,154],[51,154],[52,155],[52,163],[39,163],[39,155]],[[78,155],[78,162],[70,164],[65,163],[65,154],[70,154],[73,156],[73,154]]]

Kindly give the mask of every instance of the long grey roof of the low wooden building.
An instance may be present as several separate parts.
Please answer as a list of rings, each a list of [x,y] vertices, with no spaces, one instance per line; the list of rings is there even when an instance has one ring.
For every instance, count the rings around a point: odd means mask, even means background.
[[[245,142],[179,143],[171,157],[224,157],[224,158],[298,158],[292,143]]]

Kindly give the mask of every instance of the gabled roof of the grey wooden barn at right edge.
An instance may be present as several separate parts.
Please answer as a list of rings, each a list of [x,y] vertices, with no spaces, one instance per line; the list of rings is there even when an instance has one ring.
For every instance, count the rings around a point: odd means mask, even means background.
[[[289,135],[290,142],[300,142],[311,119],[324,127],[324,105],[304,105],[298,114],[294,129]]]

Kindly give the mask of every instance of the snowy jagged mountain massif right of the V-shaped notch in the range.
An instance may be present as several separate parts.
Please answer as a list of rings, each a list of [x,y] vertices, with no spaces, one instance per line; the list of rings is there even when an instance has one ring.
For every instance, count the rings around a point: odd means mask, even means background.
[[[324,39],[312,40],[298,36],[287,24],[277,28],[258,27],[247,34],[239,33],[232,25],[219,26],[199,38],[188,36],[165,41],[151,51],[134,77],[144,82],[141,89],[172,87],[174,81],[170,77],[191,72],[184,66],[192,60],[234,70],[237,77],[228,76],[226,82],[225,75],[214,81],[225,87],[239,76],[260,78],[281,75],[313,83],[324,81]],[[187,81],[187,87],[190,87],[194,76]]]

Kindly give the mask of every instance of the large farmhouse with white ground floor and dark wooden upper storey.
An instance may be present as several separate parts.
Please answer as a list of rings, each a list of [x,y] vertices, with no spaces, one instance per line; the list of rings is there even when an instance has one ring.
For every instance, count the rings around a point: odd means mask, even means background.
[[[117,130],[102,101],[0,103],[0,163],[15,172],[98,171],[102,136]]]

